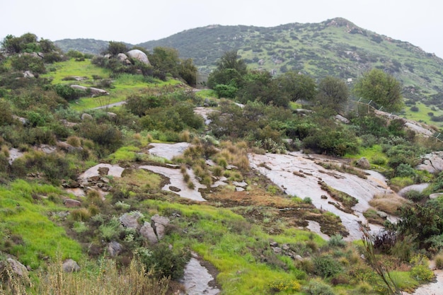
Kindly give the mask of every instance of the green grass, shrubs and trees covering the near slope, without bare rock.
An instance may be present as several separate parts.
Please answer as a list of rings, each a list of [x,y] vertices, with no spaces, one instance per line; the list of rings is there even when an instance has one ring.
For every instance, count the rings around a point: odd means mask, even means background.
[[[76,288],[87,294],[174,294],[183,289],[178,279],[191,252],[212,265],[223,294],[394,294],[432,279],[423,254],[437,255],[441,265],[442,198],[428,196],[443,190],[443,176],[415,167],[422,154],[442,144],[406,129],[401,119],[353,106],[343,76],[316,83],[287,69],[275,77],[251,70],[233,51],[209,75],[213,89],[195,93],[189,87],[196,84],[195,66],[168,47],[147,52],[148,65],[118,59],[130,48],[121,42],[108,43],[109,57],[69,52],[69,60],[52,62],[33,53],[55,54],[57,48],[33,34],[8,36],[3,46],[0,294],[73,294]],[[71,88],[73,81],[110,94],[88,97],[91,92]],[[304,109],[292,109],[295,102]],[[205,108],[211,111],[207,125],[195,113],[202,105],[212,105]],[[336,120],[338,113],[350,122]],[[152,142],[181,141],[190,144],[181,156],[149,154]],[[424,182],[430,187],[408,199],[374,197],[365,216],[386,232],[368,236],[363,245],[347,243],[338,216],[314,207],[309,196],[284,195],[250,168],[248,153],[300,149],[346,156],[347,165],[323,168],[360,178],[367,175],[353,166],[364,156],[395,190]],[[115,177],[102,168],[90,183],[78,178],[96,163],[125,170]],[[180,188],[144,170],[148,165],[180,170],[183,190],[205,185],[198,192],[207,202],[162,190]],[[217,186],[221,179],[226,185]],[[246,183],[246,191],[237,191],[236,183]],[[340,210],[352,212],[357,199],[321,185]],[[83,197],[64,190],[84,186]],[[398,223],[377,210],[396,214]],[[137,229],[156,214],[170,221],[154,245]],[[137,219],[134,227],[123,226],[122,216]],[[307,220],[318,221],[330,241],[299,229]],[[115,243],[117,255],[110,249]],[[28,266],[30,275],[12,272],[9,257]],[[63,272],[67,258],[81,270]]]

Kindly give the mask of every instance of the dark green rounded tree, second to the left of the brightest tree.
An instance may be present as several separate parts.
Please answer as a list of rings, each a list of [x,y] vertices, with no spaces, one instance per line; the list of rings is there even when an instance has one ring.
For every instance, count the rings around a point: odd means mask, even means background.
[[[316,96],[316,81],[308,75],[288,71],[277,78],[277,83],[291,101],[310,101]]]

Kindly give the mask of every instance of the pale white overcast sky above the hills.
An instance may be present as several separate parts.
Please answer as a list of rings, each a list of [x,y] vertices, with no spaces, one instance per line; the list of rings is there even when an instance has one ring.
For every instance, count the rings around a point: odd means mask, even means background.
[[[437,0],[0,0],[0,11],[0,40],[34,33],[132,44],[212,24],[272,27],[342,17],[443,58]]]

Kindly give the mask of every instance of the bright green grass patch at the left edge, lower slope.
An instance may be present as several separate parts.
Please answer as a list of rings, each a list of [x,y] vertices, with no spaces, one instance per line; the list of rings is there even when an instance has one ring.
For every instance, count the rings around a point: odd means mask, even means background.
[[[56,187],[27,183],[25,180],[16,180],[9,187],[0,187],[0,222],[10,231],[10,235],[23,241],[8,242],[11,243],[10,252],[33,269],[40,266],[42,258],[54,258],[57,254],[62,255],[63,259],[77,261],[82,257],[80,245],[48,218],[50,212],[66,211],[66,207],[50,201],[59,199],[59,195],[62,195],[62,191]],[[3,246],[6,247],[5,244]]]

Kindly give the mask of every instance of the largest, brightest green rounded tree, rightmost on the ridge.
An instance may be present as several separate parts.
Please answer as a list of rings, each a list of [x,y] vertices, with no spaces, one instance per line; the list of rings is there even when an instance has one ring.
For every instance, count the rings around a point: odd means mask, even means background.
[[[355,84],[354,93],[372,100],[388,112],[398,112],[403,108],[401,83],[381,69],[364,73]]]

